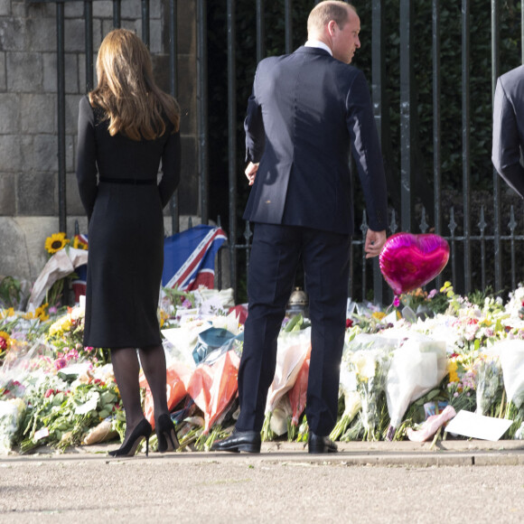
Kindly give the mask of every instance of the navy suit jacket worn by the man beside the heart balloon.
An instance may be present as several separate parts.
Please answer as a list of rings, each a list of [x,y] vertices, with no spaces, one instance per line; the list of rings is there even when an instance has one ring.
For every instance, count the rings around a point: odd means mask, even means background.
[[[260,61],[246,161],[259,162],[245,220],[353,234],[351,148],[370,229],[387,228],[387,189],[370,89],[319,48]]]

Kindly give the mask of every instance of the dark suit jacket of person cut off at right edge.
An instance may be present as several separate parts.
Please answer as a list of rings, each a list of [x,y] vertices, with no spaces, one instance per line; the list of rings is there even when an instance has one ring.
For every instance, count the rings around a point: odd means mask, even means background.
[[[524,198],[524,66],[497,80],[493,100],[493,148],[491,160],[497,172]]]

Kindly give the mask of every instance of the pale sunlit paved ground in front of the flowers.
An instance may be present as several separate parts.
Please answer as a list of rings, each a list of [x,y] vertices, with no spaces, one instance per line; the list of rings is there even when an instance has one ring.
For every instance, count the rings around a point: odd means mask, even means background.
[[[302,444],[261,454],[108,457],[111,445],[0,457],[0,522],[524,521],[524,443]]]

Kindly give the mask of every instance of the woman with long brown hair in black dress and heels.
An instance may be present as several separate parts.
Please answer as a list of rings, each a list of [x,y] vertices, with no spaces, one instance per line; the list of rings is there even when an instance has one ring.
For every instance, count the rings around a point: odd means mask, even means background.
[[[179,444],[167,407],[157,307],[163,208],[180,180],[180,111],[154,83],[149,51],[135,33],[108,33],[97,74],[79,114],[77,179],[89,220],[84,344],[110,348],[126,411],[124,441],[109,454],[134,455],[144,440],[149,452],[153,428],[141,406],[140,365],[154,399],[158,450],[172,451]]]

